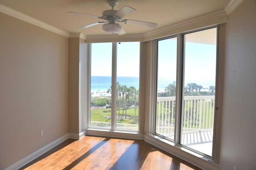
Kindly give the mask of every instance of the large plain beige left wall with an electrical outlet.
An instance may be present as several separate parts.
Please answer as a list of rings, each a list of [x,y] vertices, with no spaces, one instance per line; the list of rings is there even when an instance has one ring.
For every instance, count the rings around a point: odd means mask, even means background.
[[[68,38],[2,13],[0,21],[4,169],[68,133]]]

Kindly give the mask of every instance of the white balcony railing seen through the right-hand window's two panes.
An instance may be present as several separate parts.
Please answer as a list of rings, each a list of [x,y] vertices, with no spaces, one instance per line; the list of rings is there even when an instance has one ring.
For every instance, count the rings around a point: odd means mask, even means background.
[[[213,129],[214,96],[184,96],[182,133]],[[157,99],[156,133],[174,135],[175,97]]]

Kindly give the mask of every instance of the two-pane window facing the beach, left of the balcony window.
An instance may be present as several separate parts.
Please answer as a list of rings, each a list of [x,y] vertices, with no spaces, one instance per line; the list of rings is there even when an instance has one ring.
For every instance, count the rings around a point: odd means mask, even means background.
[[[140,43],[92,43],[90,127],[138,131]]]

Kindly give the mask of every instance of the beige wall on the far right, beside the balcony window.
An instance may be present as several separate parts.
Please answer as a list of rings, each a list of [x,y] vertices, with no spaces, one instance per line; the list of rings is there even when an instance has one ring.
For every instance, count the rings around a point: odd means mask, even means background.
[[[256,1],[245,0],[226,24],[220,168],[256,169]]]

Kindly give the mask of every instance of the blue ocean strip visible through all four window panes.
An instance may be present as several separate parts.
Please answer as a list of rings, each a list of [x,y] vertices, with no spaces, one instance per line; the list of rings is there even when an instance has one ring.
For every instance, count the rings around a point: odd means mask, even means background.
[[[166,86],[173,83],[175,80],[168,80],[166,78],[158,79],[158,90],[164,90]],[[121,85],[126,85],[128,88],[134,86],[136,89],[139,88],[139,77],[117,77],[117,82]],[[192,83],[192,82],[188,82]],[[209,86],[215,86],[215,81],[196,81],[198,85],[203,88],[209,88]],[[185,84],[187,84],[185,82]],[[91,76],[91,92],[107,92],[111,86],[111,76]]]

